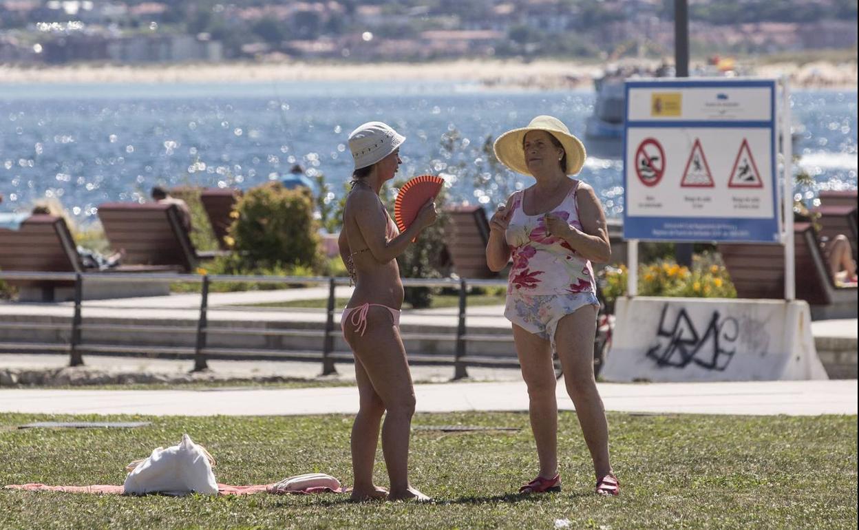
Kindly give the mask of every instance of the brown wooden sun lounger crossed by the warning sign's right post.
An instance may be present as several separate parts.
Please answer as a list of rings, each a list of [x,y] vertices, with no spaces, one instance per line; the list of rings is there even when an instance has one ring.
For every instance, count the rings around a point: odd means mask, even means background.
[[[835,284],[810,222],[794,225],[796,298],[814,319],[856,318],[856,286]],[[784,298],[784,249],[756,243],[720,244],[719,253],[740,298]]]

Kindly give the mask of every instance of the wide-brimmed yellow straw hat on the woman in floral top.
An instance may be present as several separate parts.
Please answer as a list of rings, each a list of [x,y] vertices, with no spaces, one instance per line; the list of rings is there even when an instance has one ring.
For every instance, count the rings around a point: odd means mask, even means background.
[[[582,165],[588,156],[582,140],[571,135],[570,129],[567,129],[560,119],[552,116],[538,116],[532,119],[527,127],[507,131],[498,137],[493,146],[497,159],[516,173],[531,174],[525,163],[525,149],[522,148],[522,141],[529,131],[546,131],[564,146],[567,155],[565,174],[574,175],[582,170]]]

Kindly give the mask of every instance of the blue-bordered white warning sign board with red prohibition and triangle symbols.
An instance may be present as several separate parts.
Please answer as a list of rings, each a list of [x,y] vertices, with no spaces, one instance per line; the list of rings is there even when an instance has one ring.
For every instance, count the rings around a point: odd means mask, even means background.
[[[776,82],[626,82],[624,238],[780,242]]]

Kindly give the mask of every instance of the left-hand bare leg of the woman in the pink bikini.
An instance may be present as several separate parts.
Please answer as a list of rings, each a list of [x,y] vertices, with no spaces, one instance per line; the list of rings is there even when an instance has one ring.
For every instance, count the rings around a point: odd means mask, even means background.
[[[358,394],[361,405],[352,424],[352,472],[355,485],[352,488],[353,500],[368,500],[385,498],[387,490],[373,484],[373,465],[375,451],[379,442],[379,426],[381,415],[385,413],[385,405],[379,394],[373,389],[367,372],[361,361],[355,357],[355,378],[358,383]]]

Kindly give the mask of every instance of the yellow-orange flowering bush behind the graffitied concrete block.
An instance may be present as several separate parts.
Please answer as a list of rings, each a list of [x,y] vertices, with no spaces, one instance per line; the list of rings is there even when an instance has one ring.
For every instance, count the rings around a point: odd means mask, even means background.
[[[614,301],[626,295],[629,271],[625,265],[606,267],[600,273],[600,288],[606,307],[613,312]],[[698,254],[691,270],[673,260],[661,259],[638,267],[638,294],[642,296],[686,296],[700,298],[736,298],[737,290],[728,270],[713,254]]]

